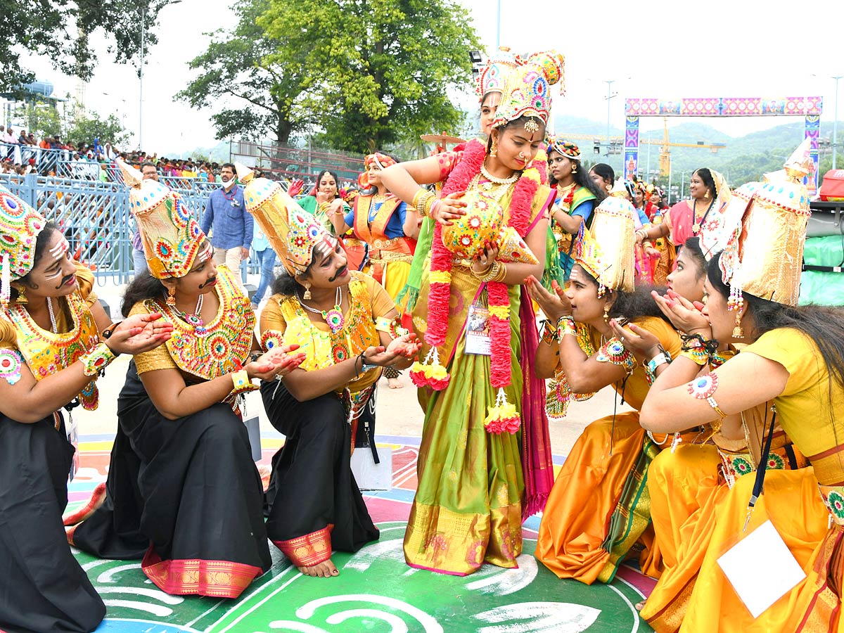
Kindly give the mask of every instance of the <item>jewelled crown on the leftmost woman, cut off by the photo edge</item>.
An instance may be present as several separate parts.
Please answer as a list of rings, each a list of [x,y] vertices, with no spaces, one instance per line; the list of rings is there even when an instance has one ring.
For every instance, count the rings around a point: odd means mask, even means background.
[[[14,193],[0,187],[0,303],[8,306],[10,282],[30,273],[35,241],[46,219]]]

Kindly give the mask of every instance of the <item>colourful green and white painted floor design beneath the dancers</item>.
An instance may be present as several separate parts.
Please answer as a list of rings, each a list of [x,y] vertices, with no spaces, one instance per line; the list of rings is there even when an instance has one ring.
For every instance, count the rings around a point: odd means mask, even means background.
[[[100,560],[74,550],[106,602],[98,633],[620,633],[649,631],[634,604],[653,581],[622,568],[610,585],[560,581],[533,557],[538,517],[524,527],[517,570],[484,565],[472,576],[434,574],[404,563],[402,538],[416,485],[413,438],[379,437],[392,449],[393,489],[366,496],[381,539],[333,555],[334,578],[302,576],[277,549],[273,568],[236,601],[170,596],[143,576],[140,561]],[[262,438],[262,463],[279,446]],[[82,438],[73,505],[104,481],[111,442]],[[561,463],[562,460],[555,459]],[[366,495],[366,494],[365,494]]]

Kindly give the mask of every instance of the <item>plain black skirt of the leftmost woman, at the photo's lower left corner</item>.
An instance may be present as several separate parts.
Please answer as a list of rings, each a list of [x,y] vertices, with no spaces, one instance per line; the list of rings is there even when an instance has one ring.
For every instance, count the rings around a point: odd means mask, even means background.
[[[62,526],[73,446],[53,418],[0,416],[0,630],[92,631],[106,606]]]

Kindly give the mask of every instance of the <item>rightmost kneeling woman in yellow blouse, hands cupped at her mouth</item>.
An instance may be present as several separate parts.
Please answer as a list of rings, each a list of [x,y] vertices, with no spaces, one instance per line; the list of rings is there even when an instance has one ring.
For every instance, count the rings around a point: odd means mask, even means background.
[[[692,326],[689,341],[701,358],[683,357],[668,365],[648,393],[641,424],[673,431],[713,413],[726,424],[729,416],[773,400],[774,407],[766,408],[759,463],[776,461],[767,445],[779,423],[812,465],[736,477],[717,508],[694,588],[683,597],[682,631],[841,630],[844,312],[797,305],[810,215],[803,178],[811,169],[807,140],[787,162],[785,178],[775,172],[771,182],[739,187],[736,200],[731,198],[724,210],[729,240],[713,249],[723,248],[708,264],[709,299],[701,311],[688,302],[657,299],[673,319]],[[706,372],[713,341],[745,345]],[[768,521],[805,576],[754,616],[733,585],[736,576],[728,582],[718,560]],[[775,550],[770,548],[768,569],[781,566]],[[753,563],[748,572],[760,573]],[[678,623],[679,618],[670,630]]]

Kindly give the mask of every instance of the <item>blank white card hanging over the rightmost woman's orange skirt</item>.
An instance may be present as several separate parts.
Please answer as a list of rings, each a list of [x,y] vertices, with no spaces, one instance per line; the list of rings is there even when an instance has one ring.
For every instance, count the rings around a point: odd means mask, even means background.
[[[754,618],[806,577],[770,521],[728,549],[718,565]]]

